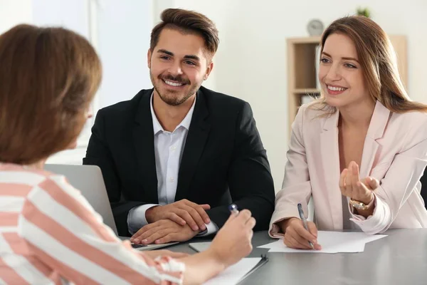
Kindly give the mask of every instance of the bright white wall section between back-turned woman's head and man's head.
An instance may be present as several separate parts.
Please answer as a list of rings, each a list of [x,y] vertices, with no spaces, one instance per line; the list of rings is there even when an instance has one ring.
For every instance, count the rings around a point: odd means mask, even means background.
[[[100,107],[134,97],[152,88],[147,67],[152,1],[102,0],[98,39],[103,66]]]

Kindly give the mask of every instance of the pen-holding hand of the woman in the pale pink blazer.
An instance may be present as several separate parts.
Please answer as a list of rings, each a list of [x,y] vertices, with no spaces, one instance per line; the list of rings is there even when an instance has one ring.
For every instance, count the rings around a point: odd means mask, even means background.
[[[298,208],[300,218],[292,217],[280,223],[282,231],[285,232],[283,243],[292,249],[322,249],[320,244],[317,244],[316,224],[307,221],[302,207],[299,205]]]

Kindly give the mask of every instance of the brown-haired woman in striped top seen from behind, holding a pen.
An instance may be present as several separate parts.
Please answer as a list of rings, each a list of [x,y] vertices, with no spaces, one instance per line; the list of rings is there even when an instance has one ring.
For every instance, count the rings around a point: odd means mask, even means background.
[[[43,171],[78,137],[100,80],[95,50],[72,31],[19,25],[0,36],[0,283],[201,284],[251,252],[247,210],[206,252],[137,252],[65,177]]]

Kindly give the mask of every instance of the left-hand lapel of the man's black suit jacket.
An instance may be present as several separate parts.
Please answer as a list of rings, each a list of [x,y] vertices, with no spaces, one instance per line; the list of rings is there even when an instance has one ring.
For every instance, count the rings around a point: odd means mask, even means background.
[[[157,196],[156,158],[154,156],[154,130],[150,110],[151,94],[152,90],[147,90],[139,101],[132,135],[137,154],[138,175],[146,196],[144,202],[157,204],[159,198]]]

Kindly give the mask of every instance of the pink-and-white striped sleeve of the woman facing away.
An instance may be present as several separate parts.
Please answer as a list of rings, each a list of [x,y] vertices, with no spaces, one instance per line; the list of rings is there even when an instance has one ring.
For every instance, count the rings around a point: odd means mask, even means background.
[[[182,284],[184,264],[120,241],[63,176],[31,190],[18,222],[33,254],[75,284]]]

